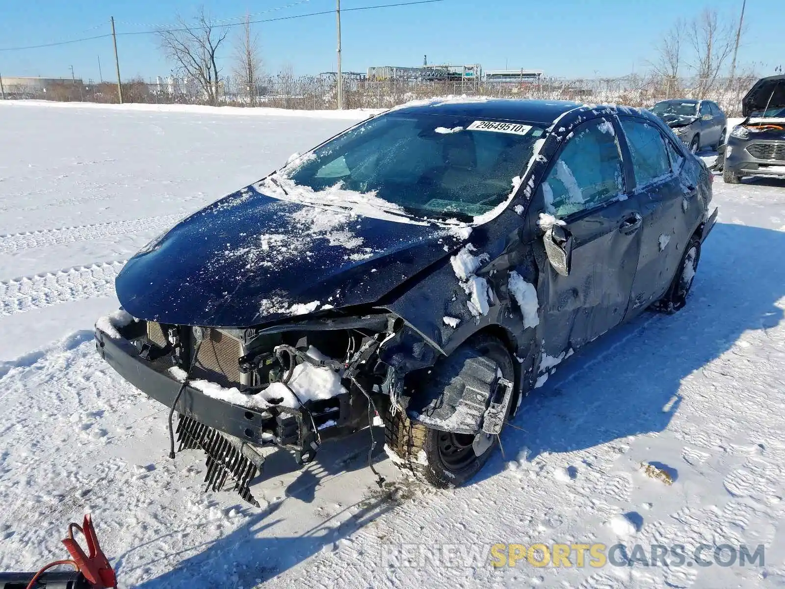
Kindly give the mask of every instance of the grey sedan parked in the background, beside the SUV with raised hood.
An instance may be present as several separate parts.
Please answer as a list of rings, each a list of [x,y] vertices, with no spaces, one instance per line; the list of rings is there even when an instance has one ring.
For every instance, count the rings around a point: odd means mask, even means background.
[[[728,119],[716,102],[674,98],[659,101],[651,111],[689,145],[692,153],[705,147],[717,149],[725,141]]]

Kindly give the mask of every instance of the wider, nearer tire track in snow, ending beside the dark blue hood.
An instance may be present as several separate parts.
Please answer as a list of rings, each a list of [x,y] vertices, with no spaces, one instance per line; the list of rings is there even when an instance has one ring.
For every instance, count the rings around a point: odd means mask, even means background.
[[[115,293],[115,276],[127,260],[24,276],[0,282],[0,316],[24,313],[61,302],[108,297]]]

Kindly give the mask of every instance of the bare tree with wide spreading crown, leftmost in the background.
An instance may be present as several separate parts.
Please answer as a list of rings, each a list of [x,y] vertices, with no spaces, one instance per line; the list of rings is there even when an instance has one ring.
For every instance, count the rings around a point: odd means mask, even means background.
[[[207,101],[217,106],[221,71],[216,63],[216,53],[229,34],[227,27],[214,23],[204,7],[190,21],[177,16],[171,29],[158,31],[161,49],[176,64],[181,75],[192,78],[203,91]]]

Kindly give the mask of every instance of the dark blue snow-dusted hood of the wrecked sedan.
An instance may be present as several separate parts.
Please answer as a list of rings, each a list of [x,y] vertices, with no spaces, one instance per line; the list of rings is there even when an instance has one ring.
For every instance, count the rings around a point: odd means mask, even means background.
[[[373,303],[462,242],[454,228],[399,219],[249,186],[144,247],[117,276],[117,296],[139,319],[211,327]]]

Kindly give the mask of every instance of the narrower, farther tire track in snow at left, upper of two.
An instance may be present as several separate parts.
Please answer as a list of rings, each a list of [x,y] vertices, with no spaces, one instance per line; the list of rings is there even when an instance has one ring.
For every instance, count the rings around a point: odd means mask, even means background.
[[[60,243],[74,243],[76,241],[97,240],[101,237],[111,237],[156,229],[173,225],[183,218],[182,214],[168,214],[162,217],[148,217],[133,219],[131,221],[108,221],[106,223],[93,223],[92,225],[79,225],[76,227],[60,227],[57,229],[38,229],[21,233],[0,235],[0,254],[11,254],[14,251],[29,250],[33,247],[46,247]]]

